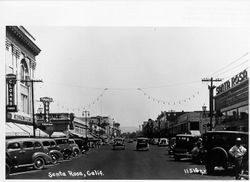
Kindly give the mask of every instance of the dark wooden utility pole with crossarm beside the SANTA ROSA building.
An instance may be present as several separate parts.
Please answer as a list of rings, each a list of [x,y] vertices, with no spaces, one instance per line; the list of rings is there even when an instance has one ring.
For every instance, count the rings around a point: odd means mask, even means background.
[[[213,99],[214,99],[214,88],[216,88],[216,86],[213,85],[213,82],[220,82],[222,81],[222,79],[220,78],[216,78],[213,79],[213,77],[211,78],[204,78],[202,79],[203,82],[210,82],[210,86],[208,86],[208,90],[209,90],[209,111],[210,111],[210,131],[212,131],[213,129]]]

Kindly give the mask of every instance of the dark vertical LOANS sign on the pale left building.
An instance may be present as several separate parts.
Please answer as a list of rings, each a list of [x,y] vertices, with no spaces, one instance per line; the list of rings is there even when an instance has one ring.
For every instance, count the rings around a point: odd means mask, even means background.
[[[6,75],[7,89],[8,89],[8,104],[6,106],[7,112],[17,112],[17,106],[15,105],[15,84],[16,75]]]

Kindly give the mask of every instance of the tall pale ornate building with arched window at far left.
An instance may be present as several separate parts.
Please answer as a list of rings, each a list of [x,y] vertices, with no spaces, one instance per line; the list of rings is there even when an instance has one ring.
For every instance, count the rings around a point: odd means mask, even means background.
[[[6,136],[29,136],[33,133],[33,93],[27,81],[35,78],[36,57],[41,50],[22,26],[6,26],[5,45]]]

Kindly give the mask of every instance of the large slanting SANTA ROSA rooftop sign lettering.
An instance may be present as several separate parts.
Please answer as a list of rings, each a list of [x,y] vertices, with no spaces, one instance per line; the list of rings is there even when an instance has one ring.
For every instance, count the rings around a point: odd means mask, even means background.
[[[225,91],[227,91],[228,89],[238,85],[239,83],[247,80],[247,70],[244,70],[242,72],[240,72],[239,74],[235,75],[234,77],[232,77],[230,80],[224,82],[223,84],[221,84],[220,86],[218,86],[216,88],[216,94],[220,94],[223,93]]]

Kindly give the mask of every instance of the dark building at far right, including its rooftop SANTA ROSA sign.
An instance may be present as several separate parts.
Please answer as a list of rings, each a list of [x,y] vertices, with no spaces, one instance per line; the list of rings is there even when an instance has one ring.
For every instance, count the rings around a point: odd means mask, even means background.
[[[216,88],[216,130],[248,132],[249,78],[243,70]]]

